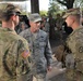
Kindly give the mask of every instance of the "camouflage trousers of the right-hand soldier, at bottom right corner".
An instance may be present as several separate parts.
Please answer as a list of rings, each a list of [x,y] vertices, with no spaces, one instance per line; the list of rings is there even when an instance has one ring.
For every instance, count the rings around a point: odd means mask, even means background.
[[[75,69],[67,69],[66,79],[67,81],[83,81],[83,73]]]

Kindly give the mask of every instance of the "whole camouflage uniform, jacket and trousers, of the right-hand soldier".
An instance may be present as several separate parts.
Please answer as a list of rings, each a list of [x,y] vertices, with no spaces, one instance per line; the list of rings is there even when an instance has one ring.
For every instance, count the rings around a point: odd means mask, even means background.
[[[74,30],[68,38],[67,44],[72,51],[75,60],[75,67],[72,73],[74,81],[83,81],[83,27]]]

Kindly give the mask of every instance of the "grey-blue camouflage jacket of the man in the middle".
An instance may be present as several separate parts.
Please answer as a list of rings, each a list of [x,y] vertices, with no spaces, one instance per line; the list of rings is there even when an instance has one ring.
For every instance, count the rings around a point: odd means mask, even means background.
[[[31,57],[33,65],[33,75],[44,76],[44,73],[47,72],[47,66],[50,66],[50,63],[52,60],[52,53],[47,33],[43,30],[39,30],[35,38],[31,30],[26,29],[22,31],[20,35],[28,41],[28,45],[32,53]]]

